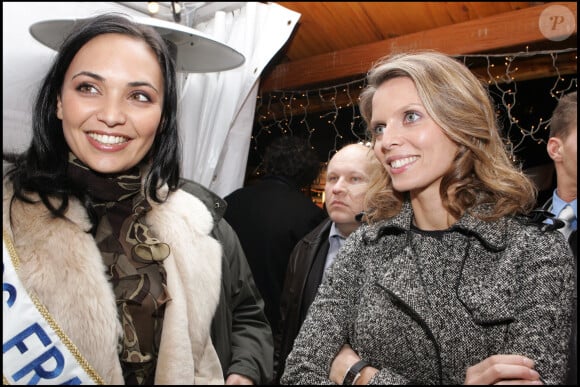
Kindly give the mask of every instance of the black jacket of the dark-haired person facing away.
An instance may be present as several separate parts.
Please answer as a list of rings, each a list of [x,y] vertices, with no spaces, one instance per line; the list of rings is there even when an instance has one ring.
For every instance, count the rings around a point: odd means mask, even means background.
[[[325,212],[291,181],[278,177],[265,177],[225,200],[225,219],[238,234],[275,331],[290,253]]]

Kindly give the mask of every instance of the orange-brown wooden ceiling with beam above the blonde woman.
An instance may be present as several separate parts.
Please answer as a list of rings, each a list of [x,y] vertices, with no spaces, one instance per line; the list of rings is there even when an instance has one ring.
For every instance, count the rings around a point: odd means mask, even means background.
[[[279,2],[301,14],[287,45],[263,73],[261,92],[336,84],[364,76],[396,50],[436,49],[452,55],[577,47],[575,2]],[[549,6],[571,11],[570,37],[540,31]],[[572,19],[573,25],[570,24]],[[561,27],[561,26],[559,26]],[[561,73],[577,72],[577,52],[559,55]],[[520,79],[554,75],[551,60],[519,64]]]

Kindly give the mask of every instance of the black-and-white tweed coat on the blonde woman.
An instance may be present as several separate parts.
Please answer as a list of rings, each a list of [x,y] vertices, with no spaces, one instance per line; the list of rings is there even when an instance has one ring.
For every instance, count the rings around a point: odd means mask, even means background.
[[[332,384],[343,343],[379,372],[370,384],[462,384],[486,357],[534,359],[564,381],[575,269],[562,234],[468,214],[411,230],[409,203],[345,241],[288,357],[282,384]]]

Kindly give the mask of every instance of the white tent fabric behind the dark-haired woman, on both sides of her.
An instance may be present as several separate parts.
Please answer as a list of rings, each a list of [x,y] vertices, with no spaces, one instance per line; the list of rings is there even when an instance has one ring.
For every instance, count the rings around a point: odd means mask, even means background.
[[[47,19],[83,18],[108,11],[143,16],[115,2],[3,2],[3,151],[30,142],[32,102],[55,52],[28,32]],[[247,2],[218,11],[192,27],[246,57],[221,73],[181,75],[180,117],[184,177],[225,196],[243,184],[261,72],[286,43],[300,17],[274,3]]]

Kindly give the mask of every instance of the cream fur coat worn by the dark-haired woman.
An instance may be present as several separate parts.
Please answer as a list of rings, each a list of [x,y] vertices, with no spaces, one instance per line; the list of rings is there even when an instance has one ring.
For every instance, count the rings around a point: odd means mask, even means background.
[[[88,232],[86,211],[71,199],[67,219],[55,218],[42,203],[11,201],[12,187],[5,179],[3,185],[3,228],[18,254],[23,285],[38,296],[105,384],[124,384],[115,296]],[[165,203],[151,205],[145,223],[171,247],[164,261],[171,301],[165,311],[155,384],[223,384],[210,338],[222,253],[209,236],[211,214],[199,199],[181,190]]]

